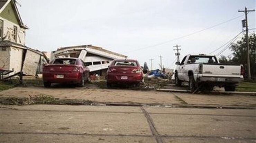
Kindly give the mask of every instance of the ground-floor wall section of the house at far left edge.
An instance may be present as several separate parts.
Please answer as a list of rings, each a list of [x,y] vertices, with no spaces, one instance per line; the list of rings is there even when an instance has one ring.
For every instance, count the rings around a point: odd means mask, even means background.
[[[0,47],[0,68],[10,67],[10,47]]]

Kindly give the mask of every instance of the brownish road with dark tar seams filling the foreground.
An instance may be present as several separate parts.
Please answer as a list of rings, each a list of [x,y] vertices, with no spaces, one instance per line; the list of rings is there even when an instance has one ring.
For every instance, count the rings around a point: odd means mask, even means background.
[[[0,143],[255,143],[255,109],[0,105]]]

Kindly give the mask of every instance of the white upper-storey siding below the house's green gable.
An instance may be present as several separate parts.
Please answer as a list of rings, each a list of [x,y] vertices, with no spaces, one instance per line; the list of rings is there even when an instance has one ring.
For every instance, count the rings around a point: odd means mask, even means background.
[[[0,17],[1,20],[3,20],[3,37],[6,37],[3,40],[9,40],[12,42],[16,42],[13,38],[13,31],[14,28],[13,26],[17,27],[17,44],[21,44],[21,45],[25,45],[25,29],[24,28],[20,28],[19,25],[16,25],[15,23],[6,20],[2,17]]]

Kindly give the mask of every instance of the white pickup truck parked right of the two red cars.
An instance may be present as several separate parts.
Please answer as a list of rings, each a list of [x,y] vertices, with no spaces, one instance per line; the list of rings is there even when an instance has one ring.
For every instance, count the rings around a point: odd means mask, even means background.
[[[243,81],[244,67],[239,64],[220,64],[216,56],[186,55],[181,63],[177,61],[175,84],[189,82],[191,92],[198,87],[212,90],[214,86],[224,87],[225,91],[235,91],[236,84]]]

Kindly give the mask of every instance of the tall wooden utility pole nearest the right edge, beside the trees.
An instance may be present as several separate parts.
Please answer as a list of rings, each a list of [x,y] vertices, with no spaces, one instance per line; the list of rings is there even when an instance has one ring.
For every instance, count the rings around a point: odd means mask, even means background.
[[[245,7],[245,10],[238,10],[238,12],[244,12],[245,13],[245,27],[246,27],[246,45],[247,45],[247,73],[248,73],[248,80],[251,80],[251,68],[250,68],[250,49],[249,49],[249,39],[248,39],[248,20],[247,20],[247,14],[250,11],[255,10],[247,10]]]

